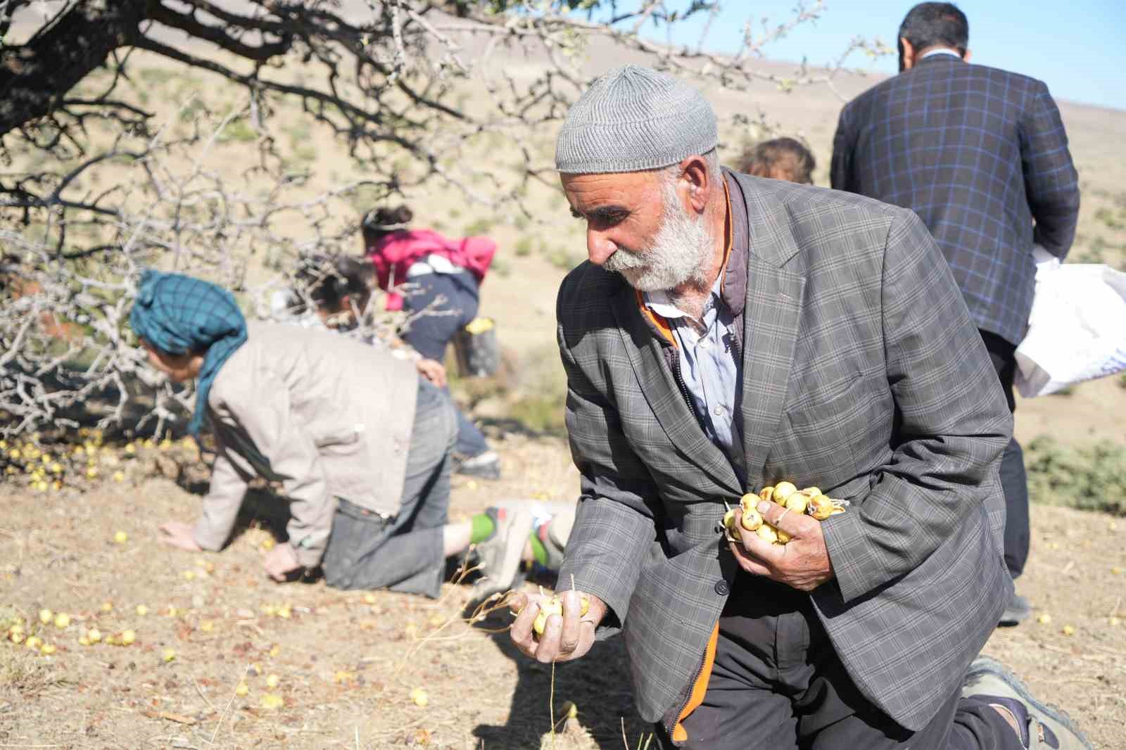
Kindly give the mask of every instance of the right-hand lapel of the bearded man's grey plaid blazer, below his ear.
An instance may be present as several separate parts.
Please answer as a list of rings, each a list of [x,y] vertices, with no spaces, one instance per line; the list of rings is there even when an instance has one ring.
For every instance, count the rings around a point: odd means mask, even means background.
[[[774,443],[789,384],[797,343],[805,277],[784,266],[798,252],[785,206],[756,178],[735,184],[747,212],[747,302],[743,307],[743,402],[740,411],[747,482],[762,483],[762,468]],[[733,202],[734,204],[734,202]]]

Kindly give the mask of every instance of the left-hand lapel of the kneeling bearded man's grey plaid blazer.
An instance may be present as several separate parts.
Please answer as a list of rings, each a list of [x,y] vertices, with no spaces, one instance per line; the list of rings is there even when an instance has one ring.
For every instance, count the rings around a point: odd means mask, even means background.
[[[677,452],[707,472],[732,495],[743,493],[727,456],[704,434],[665,364],[662,345],[637,310],[632,287],[623,285],[614,300],[614,315],[642,393]],[[627,418],[627,416],[624,416]]]

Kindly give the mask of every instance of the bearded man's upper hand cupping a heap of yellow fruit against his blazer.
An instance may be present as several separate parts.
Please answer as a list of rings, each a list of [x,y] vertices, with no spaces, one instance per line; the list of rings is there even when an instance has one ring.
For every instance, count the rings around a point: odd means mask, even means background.
[[[758,510],[768,524],[789,534],[790,541],[770,544],[740,526],[742,544],[729,543],[740,568],[801,591],[812,591],[833,578],[820,521],[805,514],[787,512],[784,507],[767,500],[759,501]],[[742,523],[742,510],[735,511],[735,525]]]

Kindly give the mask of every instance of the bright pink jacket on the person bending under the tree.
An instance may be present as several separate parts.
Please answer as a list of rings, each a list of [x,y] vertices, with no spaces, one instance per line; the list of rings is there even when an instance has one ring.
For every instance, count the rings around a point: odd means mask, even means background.
[[[497,253],[497,243],[486,236],[449,240],[430,230],[399,230],[384,234],[367,249],[375,266],[379,288],[387,292],[387,310],[402,310],[403,297],[391,289],[406,280],[406,269],[429,255],[441,256],[470,270],[481,284]]]

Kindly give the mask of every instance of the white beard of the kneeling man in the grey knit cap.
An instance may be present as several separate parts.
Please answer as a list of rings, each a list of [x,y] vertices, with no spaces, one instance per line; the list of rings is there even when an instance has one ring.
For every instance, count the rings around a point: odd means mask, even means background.
[[[703,216],[691,216],[680,204],[676,182],[662,178],[664,216],[653,242],[640,251],[618,248],[602,268],[625,276],[641,292],[668,292],[707,283],[714,238]]]

